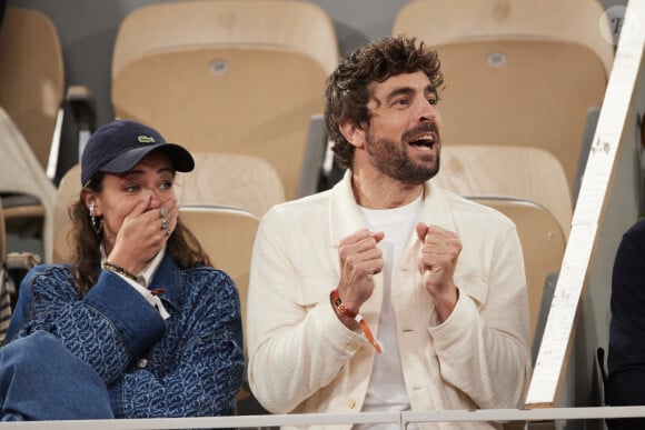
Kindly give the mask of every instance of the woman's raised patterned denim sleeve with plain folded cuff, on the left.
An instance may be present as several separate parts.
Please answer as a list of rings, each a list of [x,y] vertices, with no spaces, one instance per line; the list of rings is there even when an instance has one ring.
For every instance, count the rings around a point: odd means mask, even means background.
[[[79,299],[68,269],[37,267],[24,277],[16,308],[10,337],[48,331],[106,384],[119,379],[165,332],[159,312],[109,271]]]

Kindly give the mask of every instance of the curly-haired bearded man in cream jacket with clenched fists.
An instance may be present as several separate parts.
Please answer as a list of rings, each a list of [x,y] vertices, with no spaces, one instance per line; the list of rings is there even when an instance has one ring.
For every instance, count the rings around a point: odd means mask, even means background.
[[[267,410],[522,406],[522,249],[507,218],[429,181],[441,84],[436,52],[405,37],[358,49],[329,78],[327,129],[346,174],[272,208],[254,249],[248,374]]]

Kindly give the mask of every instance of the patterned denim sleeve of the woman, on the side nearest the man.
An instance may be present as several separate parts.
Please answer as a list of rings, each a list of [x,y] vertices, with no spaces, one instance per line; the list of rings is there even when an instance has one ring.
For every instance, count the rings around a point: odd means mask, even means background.
[[[187,282],[191,318],[170,370],[159,377],[155,360],[140,361],[109,387],[115,414],[123,418],[204,417],[235,412],[245,366],[240,303],[232,280],[198,270]],[[169,340],[165,340],[169,341]],[[181,341],[181,340],[179,340]]]

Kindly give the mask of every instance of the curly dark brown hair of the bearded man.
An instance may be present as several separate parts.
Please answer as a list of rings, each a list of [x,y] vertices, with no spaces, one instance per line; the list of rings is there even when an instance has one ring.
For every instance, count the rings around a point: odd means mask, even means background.
[[[435,89],[444,83],[437,52],[404,34],[378,39],[340,60],[325,87],[325,122],[338,166],[350,168],[355,149],[340,133],[339,124],[350,121],[361,129],[369,126],[368,86],[417,71],[426,73]]]

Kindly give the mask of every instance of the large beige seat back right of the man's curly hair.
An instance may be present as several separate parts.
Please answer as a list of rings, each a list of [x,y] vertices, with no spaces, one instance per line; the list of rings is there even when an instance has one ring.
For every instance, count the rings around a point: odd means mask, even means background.
[[[446,143],[544,148],[573,189],[587,110],[602,104],[612,69],[604,29],[611,34],[596,0],[416,0],[393,34],[439,54]]]

